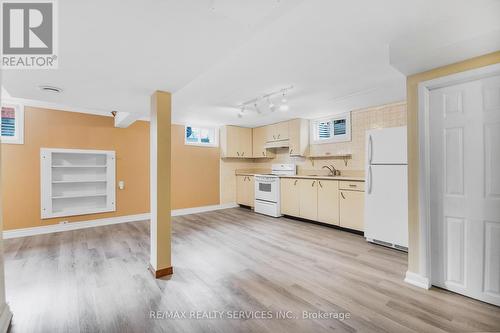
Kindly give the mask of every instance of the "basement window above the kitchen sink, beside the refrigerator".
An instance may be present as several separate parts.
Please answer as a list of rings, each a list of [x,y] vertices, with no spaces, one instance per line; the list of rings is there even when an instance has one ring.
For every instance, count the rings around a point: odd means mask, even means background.
[[[311,121],[311,143],[351,141],[351,113]]]

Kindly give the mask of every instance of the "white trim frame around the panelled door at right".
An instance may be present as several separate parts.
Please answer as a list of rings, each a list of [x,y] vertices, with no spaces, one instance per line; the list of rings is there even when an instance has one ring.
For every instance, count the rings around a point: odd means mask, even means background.
[[[430,129],[429,93],[431,90],[500,75],[500,63],[464,72],[442,76],[418,84],[418,145],[419,145],[419,273],[407,272],[405,281],[429,289],[431,271],[431,219],[430,219]]]

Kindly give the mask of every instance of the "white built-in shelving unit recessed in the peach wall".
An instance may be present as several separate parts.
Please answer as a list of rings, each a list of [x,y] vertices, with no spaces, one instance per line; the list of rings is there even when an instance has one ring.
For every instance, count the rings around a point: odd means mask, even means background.
[[[115,152],[40,149],[42,219],[112,212]]]

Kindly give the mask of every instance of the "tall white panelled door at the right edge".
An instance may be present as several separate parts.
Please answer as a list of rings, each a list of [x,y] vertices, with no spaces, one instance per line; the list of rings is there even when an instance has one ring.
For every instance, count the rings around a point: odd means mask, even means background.
[[[432,284],[500,305],[500,77],[429,106]]]

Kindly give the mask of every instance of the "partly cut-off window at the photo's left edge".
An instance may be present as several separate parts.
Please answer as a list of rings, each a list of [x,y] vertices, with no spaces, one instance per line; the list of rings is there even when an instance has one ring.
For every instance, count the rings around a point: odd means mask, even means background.
[[[24,143],[24,107],[16,103],[2,103],[1,142]]]

